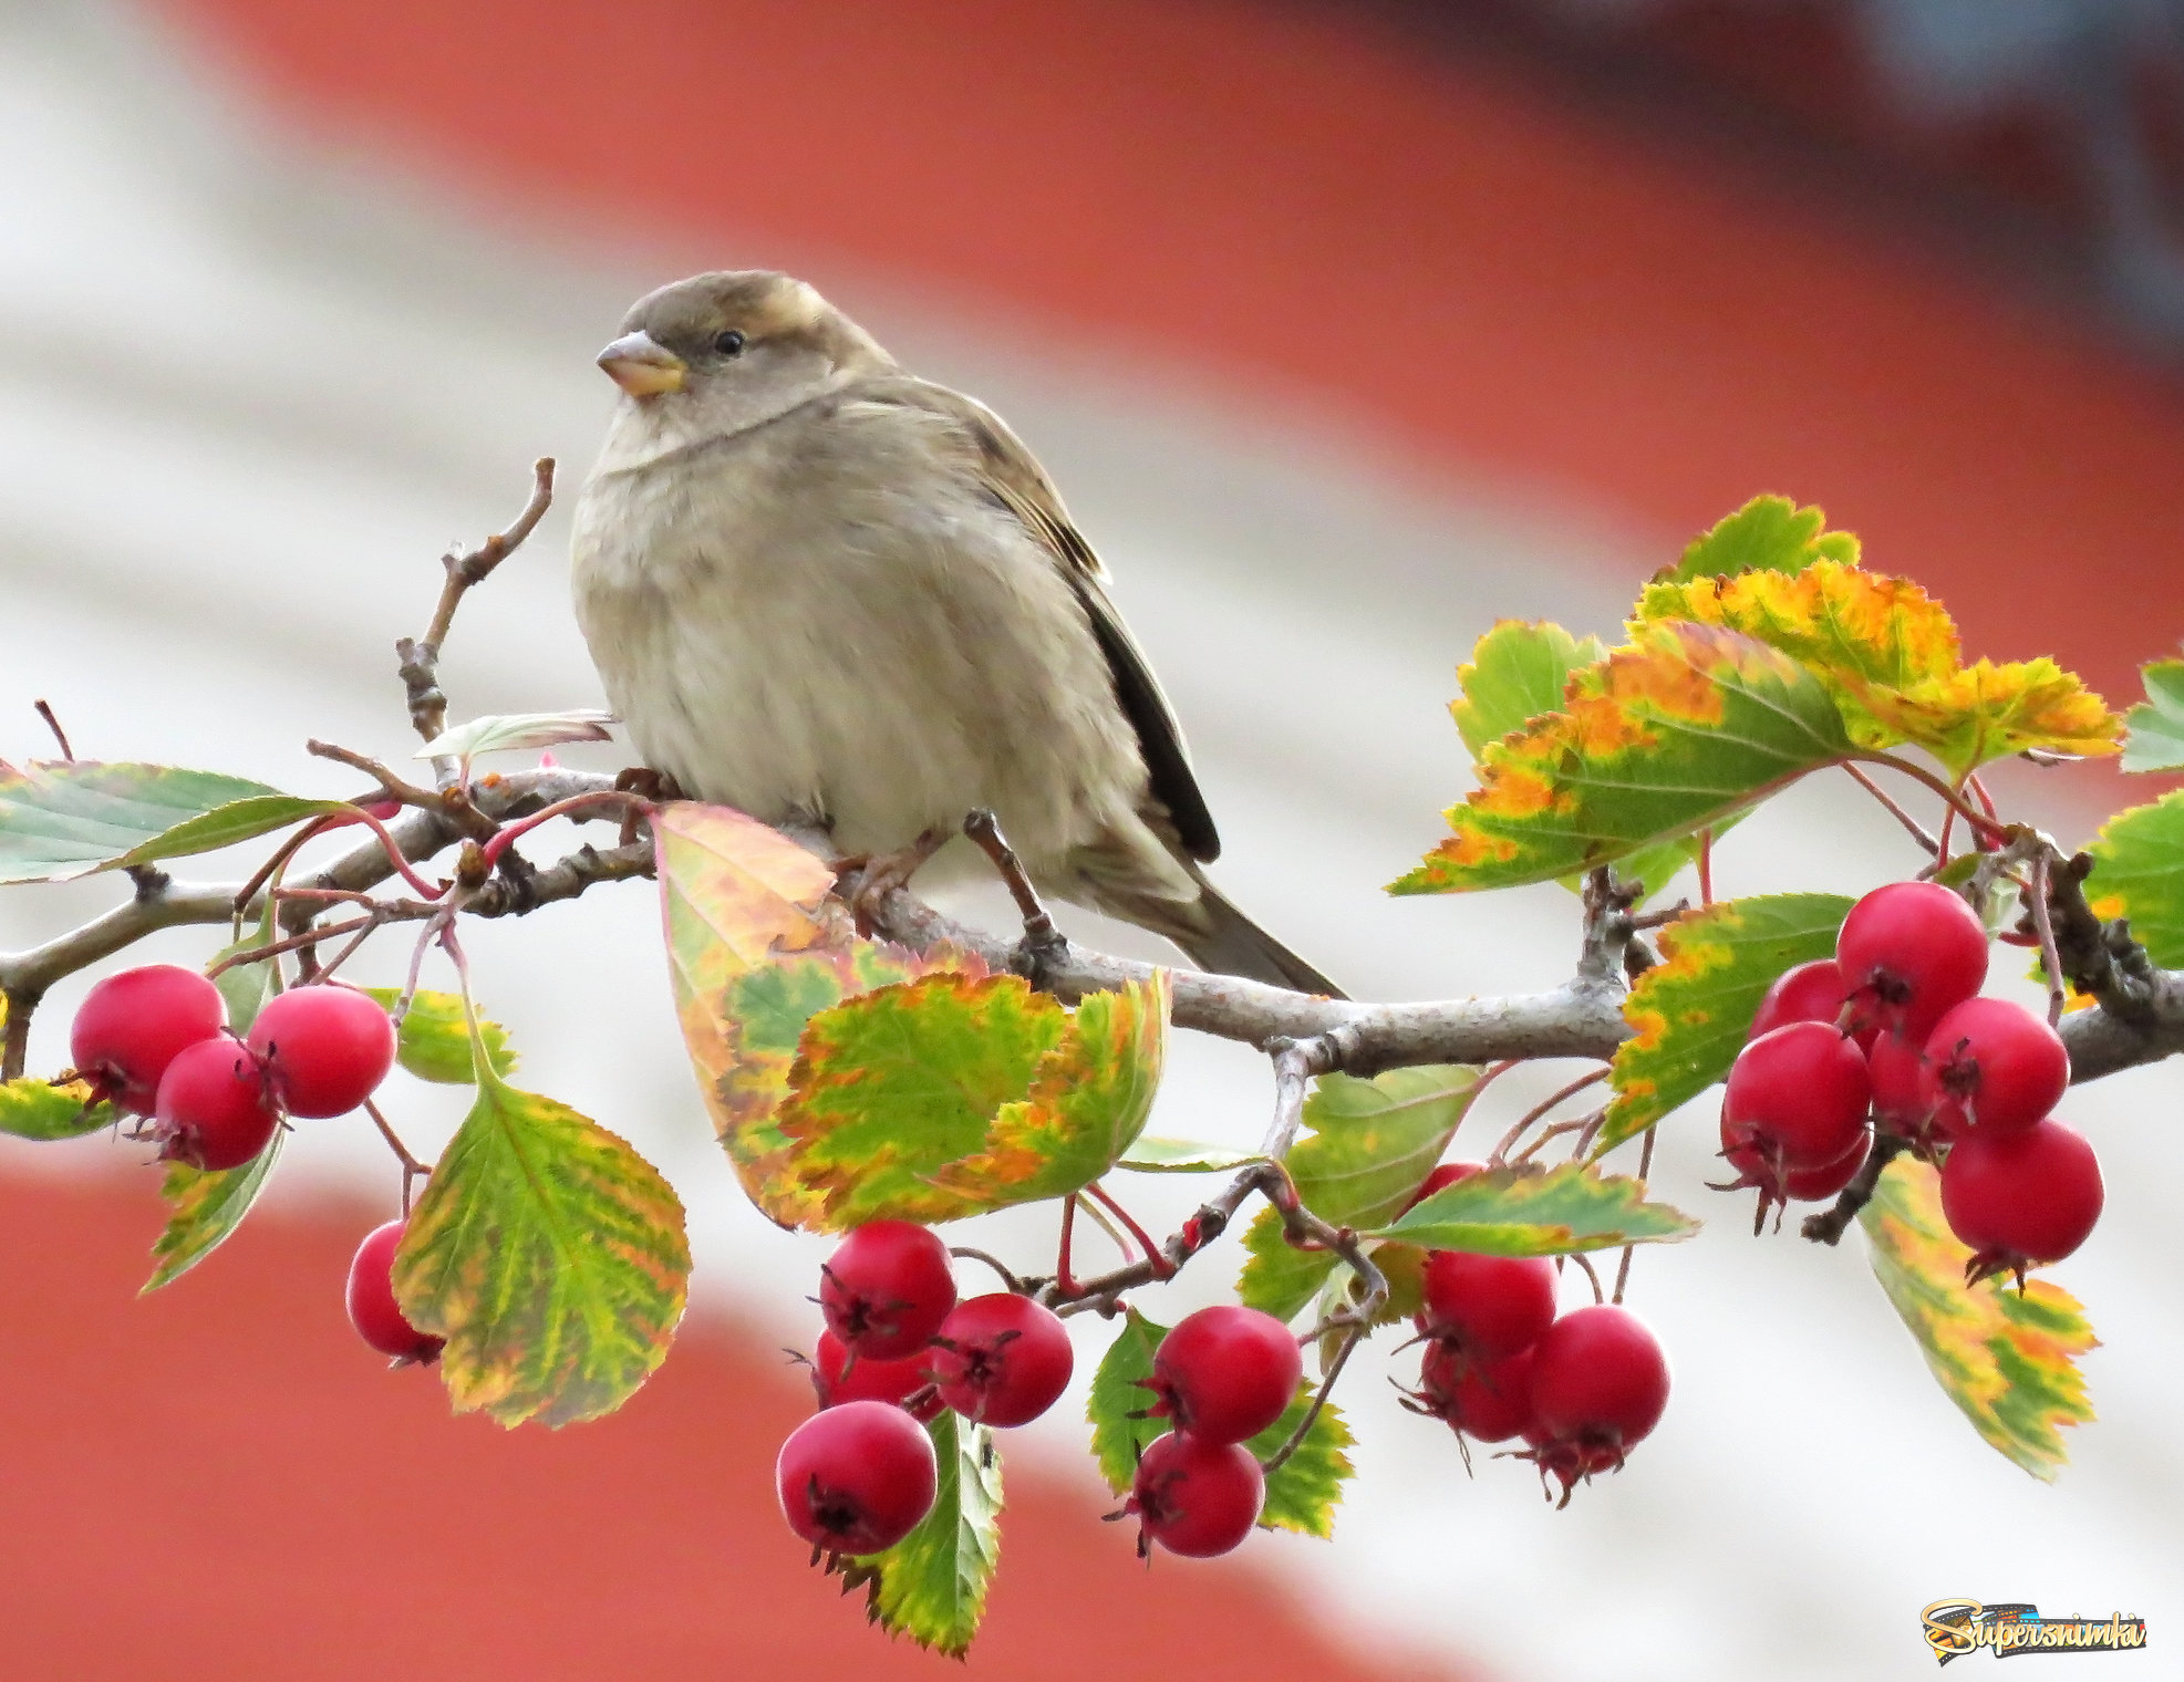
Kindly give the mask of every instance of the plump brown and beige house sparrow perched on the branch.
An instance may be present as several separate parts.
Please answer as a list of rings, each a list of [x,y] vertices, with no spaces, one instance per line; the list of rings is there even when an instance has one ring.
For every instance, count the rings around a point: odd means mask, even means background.
[[[1221,841],[1175,714],[989,408],[769,271],[638,299],[598,365],[625,395],[577,620],[651,769],[893,880],[992,808],[1040,889],[1337,994],[1199,869]]]

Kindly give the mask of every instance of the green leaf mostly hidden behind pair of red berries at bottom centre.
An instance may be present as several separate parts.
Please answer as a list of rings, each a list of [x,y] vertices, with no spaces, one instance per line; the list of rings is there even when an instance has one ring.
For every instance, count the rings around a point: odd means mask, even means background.
[[[1129,1494],[1138,1477],[1138,1459],[1155,1437],[1168,1433],[1168,1420],[1142,1418],[1153,1402],[1153,1391],[1144,1381],[1153,1376],[1153,1354],[1160,1339],[1168,1335],[1136,1308],[1125,1311],[1123,1330],[1107,1354],[1101,1357],[1092,1374],[1092,1394],[1085,1398],[1085,1420],[1092,1422],[1092,1459],[1116,1494]],[[1299,1385],[1282,1418],[1251,1437],[1245,1448],[1256,1459],[1269,1459],[1295,1433],[1310,1407],[1313,1387]],[[1352,1466],[1348,1448],[1356,1446],[1348,1422],[1332,1405],[1319,1409],[1313,1429],[1297,1453],[1267,1474],[1267,1505],[1260,1507],[1258,1523],[1269,1529],[1293,1529],[1299,1536],[1328,1536],[1334,1529],[1334,1505],[1343,1499],[1341,1485],[1350,1479]]]

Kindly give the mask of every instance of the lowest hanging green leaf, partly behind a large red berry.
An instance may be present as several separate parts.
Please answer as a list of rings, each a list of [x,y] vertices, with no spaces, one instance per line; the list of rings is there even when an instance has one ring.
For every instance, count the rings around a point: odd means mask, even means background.
[[[961,1658],[1000,1560],[1000,1455],[992,1431],[950,1409],[926,1433],[939,1464],[933,1512],[885,1553],[845,1562],[843,1590],[863,1586],[865,1614],[891,1636]]]

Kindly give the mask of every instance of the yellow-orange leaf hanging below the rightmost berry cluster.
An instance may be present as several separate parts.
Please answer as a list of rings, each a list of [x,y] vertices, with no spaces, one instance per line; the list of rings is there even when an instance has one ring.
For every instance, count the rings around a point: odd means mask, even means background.
[[[1859,1221],[1942,1391],[1994,1450],[2053,1483],[2068,1459],[2062,1426],[2092,1420],[2075,1357],[2099,1339],[2077,1298],[2046,1280],[2022,1295],[2003,1280],[1966,1287],[1972,1252],[1942,1217],[1939,1175],[1909,1156],[1887,1166]]]

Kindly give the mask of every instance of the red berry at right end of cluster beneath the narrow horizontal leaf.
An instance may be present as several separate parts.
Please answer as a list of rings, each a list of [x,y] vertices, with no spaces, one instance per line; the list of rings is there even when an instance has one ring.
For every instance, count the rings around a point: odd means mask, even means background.
[[[1669,1357],[1629,1308],[1575,1308],[1531,1352],[1524,1440],[1540,1474],[1562,1483],[1564,1503],[1577,1479],[1621,1468],[1666,1407]]]

